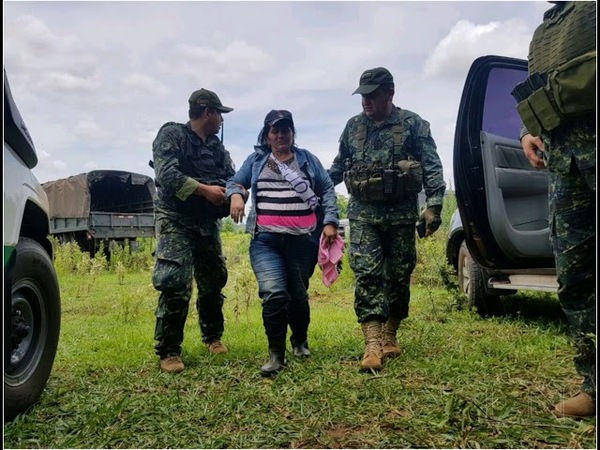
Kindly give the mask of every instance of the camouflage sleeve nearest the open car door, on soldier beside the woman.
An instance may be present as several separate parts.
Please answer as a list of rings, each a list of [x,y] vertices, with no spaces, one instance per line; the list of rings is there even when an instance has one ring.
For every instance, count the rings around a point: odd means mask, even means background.
[[[416,124],[416,127],[417,146],[419,147],[418,151],[421,153],[423,187],[425,189],[427,206],[442,206],[444,203],[444,193],[446,192],[442,161],[437,153],[435,141],[431,137],[429,122],[421,119]]]

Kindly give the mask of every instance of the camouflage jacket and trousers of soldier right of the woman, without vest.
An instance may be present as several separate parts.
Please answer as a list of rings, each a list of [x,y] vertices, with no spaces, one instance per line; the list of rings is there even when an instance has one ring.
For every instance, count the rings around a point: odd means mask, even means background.
[[[366,140],[361,151],[359,130],[364,127]],[[398,127],[402,130],[401,142],[394,138]],[[355,164],[388,165],[393,160],[411,158],[422,164],[427,206],[441,209],[446,184],[429,123],[405,109],[394,107],[390,117],[379,126],[365,113],[352,117],[340,138],[339,152],[329,175],[337,185],[344,172]],[[349,256],[356,277],[354,307],[358,322],[385,321],[389,317],[401,320],[408,316],[418,217],[416,194],[393,204],[365,202],[350,196]]]

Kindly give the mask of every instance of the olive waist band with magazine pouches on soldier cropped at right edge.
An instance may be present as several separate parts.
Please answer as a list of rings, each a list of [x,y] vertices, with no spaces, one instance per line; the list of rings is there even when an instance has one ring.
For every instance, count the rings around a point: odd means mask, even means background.
[[[596,108],[596,51],[562,64],[557,69],[533,72],[512,91],[527,131],[540,136],[565,119],[593,114]]]

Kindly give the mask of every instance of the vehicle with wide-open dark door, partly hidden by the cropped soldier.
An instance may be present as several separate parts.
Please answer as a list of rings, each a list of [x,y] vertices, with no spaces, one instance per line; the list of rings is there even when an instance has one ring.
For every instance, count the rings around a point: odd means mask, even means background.
[[[556,292],[548,220],[548,172],[533,168],[519,142],[511,91],[527,61],[482,56],[471,65],[454,136],[457,212],[446,247],[459,285],[479,313],[519,290]]]

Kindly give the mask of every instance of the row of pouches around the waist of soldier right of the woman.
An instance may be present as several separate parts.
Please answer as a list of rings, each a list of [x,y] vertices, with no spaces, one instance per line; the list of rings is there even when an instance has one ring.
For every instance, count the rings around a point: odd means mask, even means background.
[[[423,168],[414,160],[402,160],[393,168],[364,165],[344,172],[348,193],[366,202],[395,203],[421,192]]]

